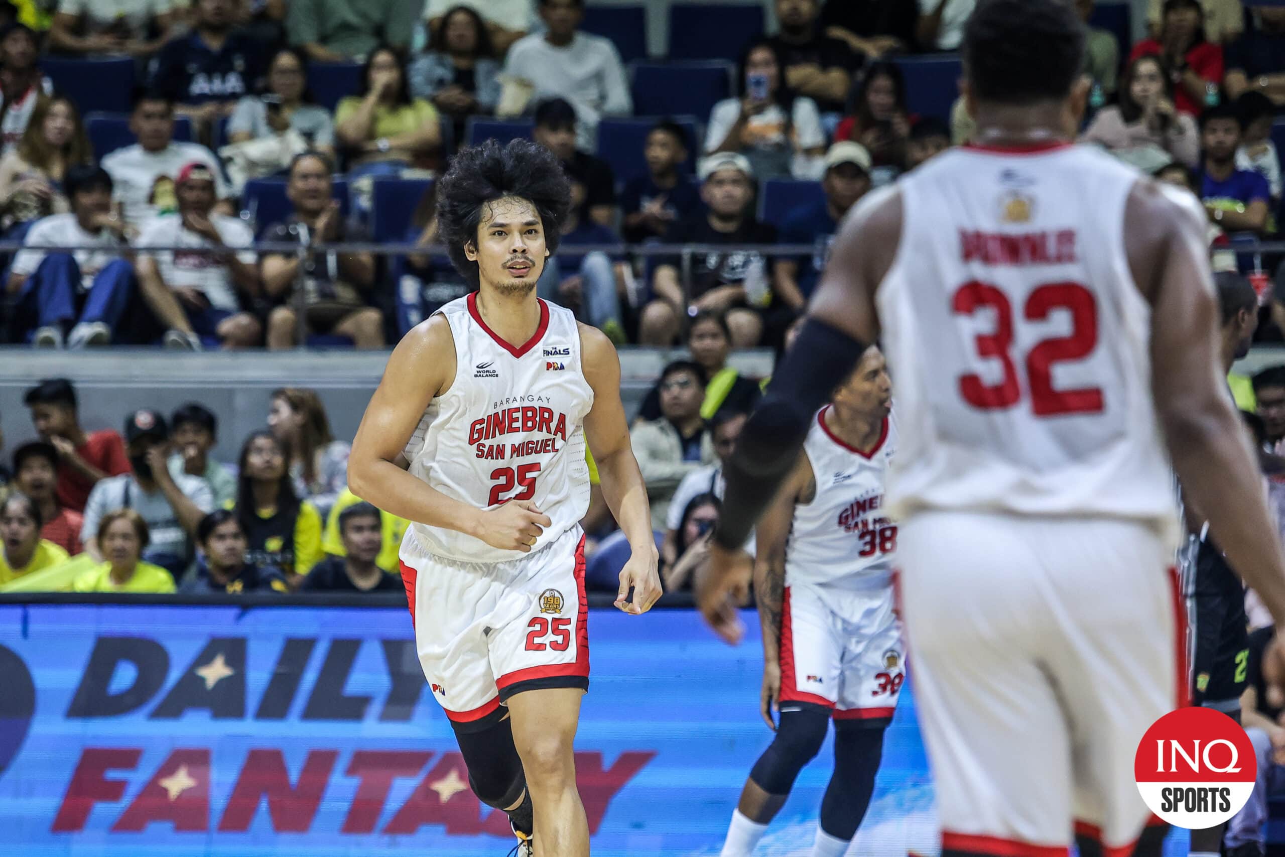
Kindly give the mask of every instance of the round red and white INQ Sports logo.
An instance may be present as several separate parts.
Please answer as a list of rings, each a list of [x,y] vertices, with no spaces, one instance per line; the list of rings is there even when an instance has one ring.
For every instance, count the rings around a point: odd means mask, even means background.
[[[1240,812],[1257,775],[1245,730],[1212,708],[1169,712],[1151,723],[1133,755],[1133,777],[1148,808],[1187,830],[1221,825]]]

